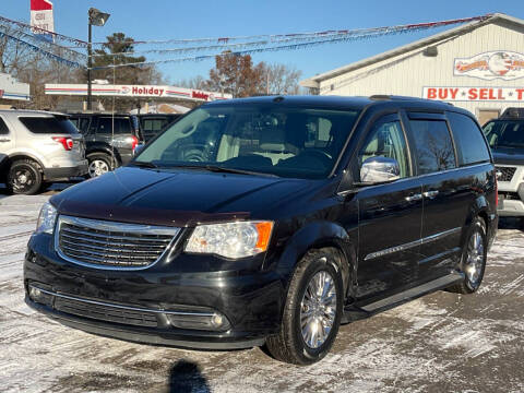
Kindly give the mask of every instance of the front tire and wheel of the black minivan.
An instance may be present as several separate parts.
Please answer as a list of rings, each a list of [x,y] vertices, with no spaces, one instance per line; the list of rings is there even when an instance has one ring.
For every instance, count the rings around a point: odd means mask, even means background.
[[[279,332],[266,340],[266,347],[275,359],[305,366],[319,361],[330,352],[338,332],[344,302],[342,274],[341,270],[335,267],[335,261],[336,250],[320,249],[309,251],[298,263],[289,284]],[[311,293],[314,282],[326,286],[331,283],[332,289],[324,297],[324,309],[320,306],[322,301],[319,302],[314,289]],[[331,300],[327,300],[330,298]],[[319,318],[332,323],[324,337],[321,334],[314,340],[314,335],[308,333],[315,331],[310,327],[318,330]],[[303,324],[303,330],[301,320],[310,322]],[[325,330],[322,329],[321,332]]]

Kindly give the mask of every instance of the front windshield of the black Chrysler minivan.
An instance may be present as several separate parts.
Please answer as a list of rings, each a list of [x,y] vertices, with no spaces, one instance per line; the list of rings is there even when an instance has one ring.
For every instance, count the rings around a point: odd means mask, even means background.
[[[135,160],[156,167],[325,178],[358,114],[260,105],[199,108],[168,128]]]

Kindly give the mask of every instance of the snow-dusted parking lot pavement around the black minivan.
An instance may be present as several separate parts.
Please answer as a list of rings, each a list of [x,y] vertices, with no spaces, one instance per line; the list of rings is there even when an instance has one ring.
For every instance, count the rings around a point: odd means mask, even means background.
[[[98,337],[23,301],[22,264],[57,191],[0,190],[0,390],[27,392],[523,392],[524,231],[503,219],[476,295],[439,291],[341,327],[320,364],[263,350],[193,352]]]

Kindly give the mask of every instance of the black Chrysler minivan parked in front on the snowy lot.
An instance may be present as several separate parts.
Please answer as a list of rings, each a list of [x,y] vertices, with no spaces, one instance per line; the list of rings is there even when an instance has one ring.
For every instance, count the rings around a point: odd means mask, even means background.
[[[205,104],[127,167],[53,195],[26,302],[64,324],[307,365],[341,323],[474,293],[497,179],[472,115],[417,98]]]

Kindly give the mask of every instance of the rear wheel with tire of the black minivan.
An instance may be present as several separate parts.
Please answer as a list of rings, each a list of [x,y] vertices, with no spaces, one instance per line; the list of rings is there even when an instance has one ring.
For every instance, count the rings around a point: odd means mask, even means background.
[[[458,270],[464,273],[464,281],[450,287],[449,290],[465,295],[475,293],[483,282],[487,257],[486,223],[483,218],[476,217],[467,233],[458,266]]]

